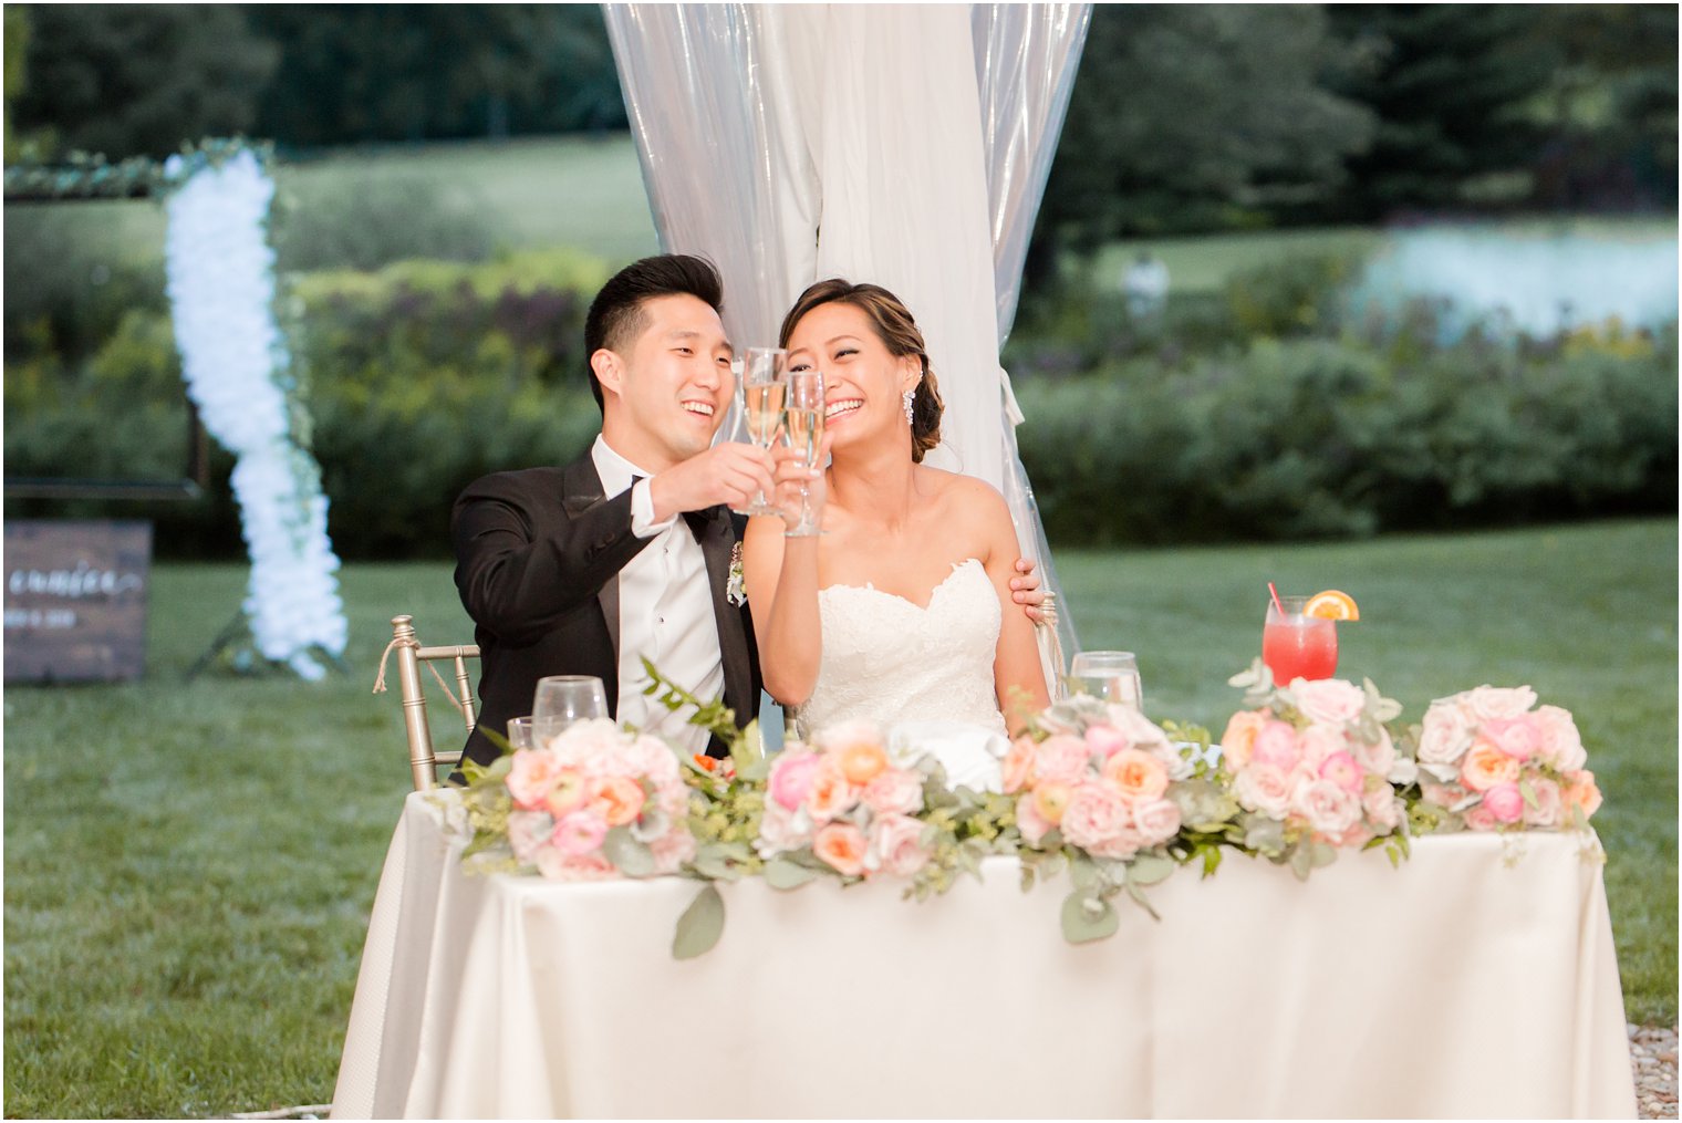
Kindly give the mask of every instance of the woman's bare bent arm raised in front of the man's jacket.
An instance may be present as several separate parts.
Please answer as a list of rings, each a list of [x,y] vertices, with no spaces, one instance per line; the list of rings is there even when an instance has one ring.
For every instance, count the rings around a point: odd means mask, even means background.
[[[754,614],[765,691],[784,706],[799,706],[817,684],[817,664],[822,657],[822,627],[817,617],[819,538],[784,538],[782,531],[784,523],[775,514],[747,521],[742,578],[748,610]]]

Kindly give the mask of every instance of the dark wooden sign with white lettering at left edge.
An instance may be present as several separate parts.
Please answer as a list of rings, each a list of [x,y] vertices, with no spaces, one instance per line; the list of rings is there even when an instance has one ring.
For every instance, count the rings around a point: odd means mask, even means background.
[[[151,523],[7,521],[5,681],[140,677]]]

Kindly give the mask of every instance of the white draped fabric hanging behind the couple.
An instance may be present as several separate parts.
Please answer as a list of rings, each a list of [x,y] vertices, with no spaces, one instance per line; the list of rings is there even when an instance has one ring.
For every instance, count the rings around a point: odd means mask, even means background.
[[[999,345],[1087,10],[604,5],[661,244],[720,266],[732,338],[821,277],[893,289],[947,407],[928,462],[1006,494],[1053,592]]]

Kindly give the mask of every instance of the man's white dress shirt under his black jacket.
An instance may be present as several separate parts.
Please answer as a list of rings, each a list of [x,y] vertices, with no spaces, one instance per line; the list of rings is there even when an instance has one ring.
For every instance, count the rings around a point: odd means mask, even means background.
[[[673,514],[654,521],[654,498],[648,476],[624,459],[600,435],[590,449],[602,494],[609,499],[631,488],[631,533],[653,538],[619,570],[619,721],[658,733],[685,751],[705,753],[708,733],[686,723],[695,713],[685,706],[668,711],[658,698],[643,693],[648,674],[643,657],[659,672],[703,701],[722,698],[725,664],[718,651],[718,619],[706,577],[706,555],[690,525]]]

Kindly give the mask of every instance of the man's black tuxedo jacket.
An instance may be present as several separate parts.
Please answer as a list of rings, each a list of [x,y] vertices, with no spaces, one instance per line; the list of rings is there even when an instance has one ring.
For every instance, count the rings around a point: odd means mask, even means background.
[[[747,725],[759,708],[759,654],[747,605],[727,597],[730,551],[745,519],[725,506],[683,519],[706,556],[725,704]],[[496,472],[456,499],[451,540],[456,590],[476,625],[481,661],[479,721],[466,758],[496,760],[500,750],[483,730],[506,736],[510,718],[532,713],[537,681],[547,674],[594,674],[616,711],[619,570],[653,541],[631,533],[631,493],[604,499],[587,452],[565,467]],[[708,751],[720,755],[723,746],[713,738]]]

